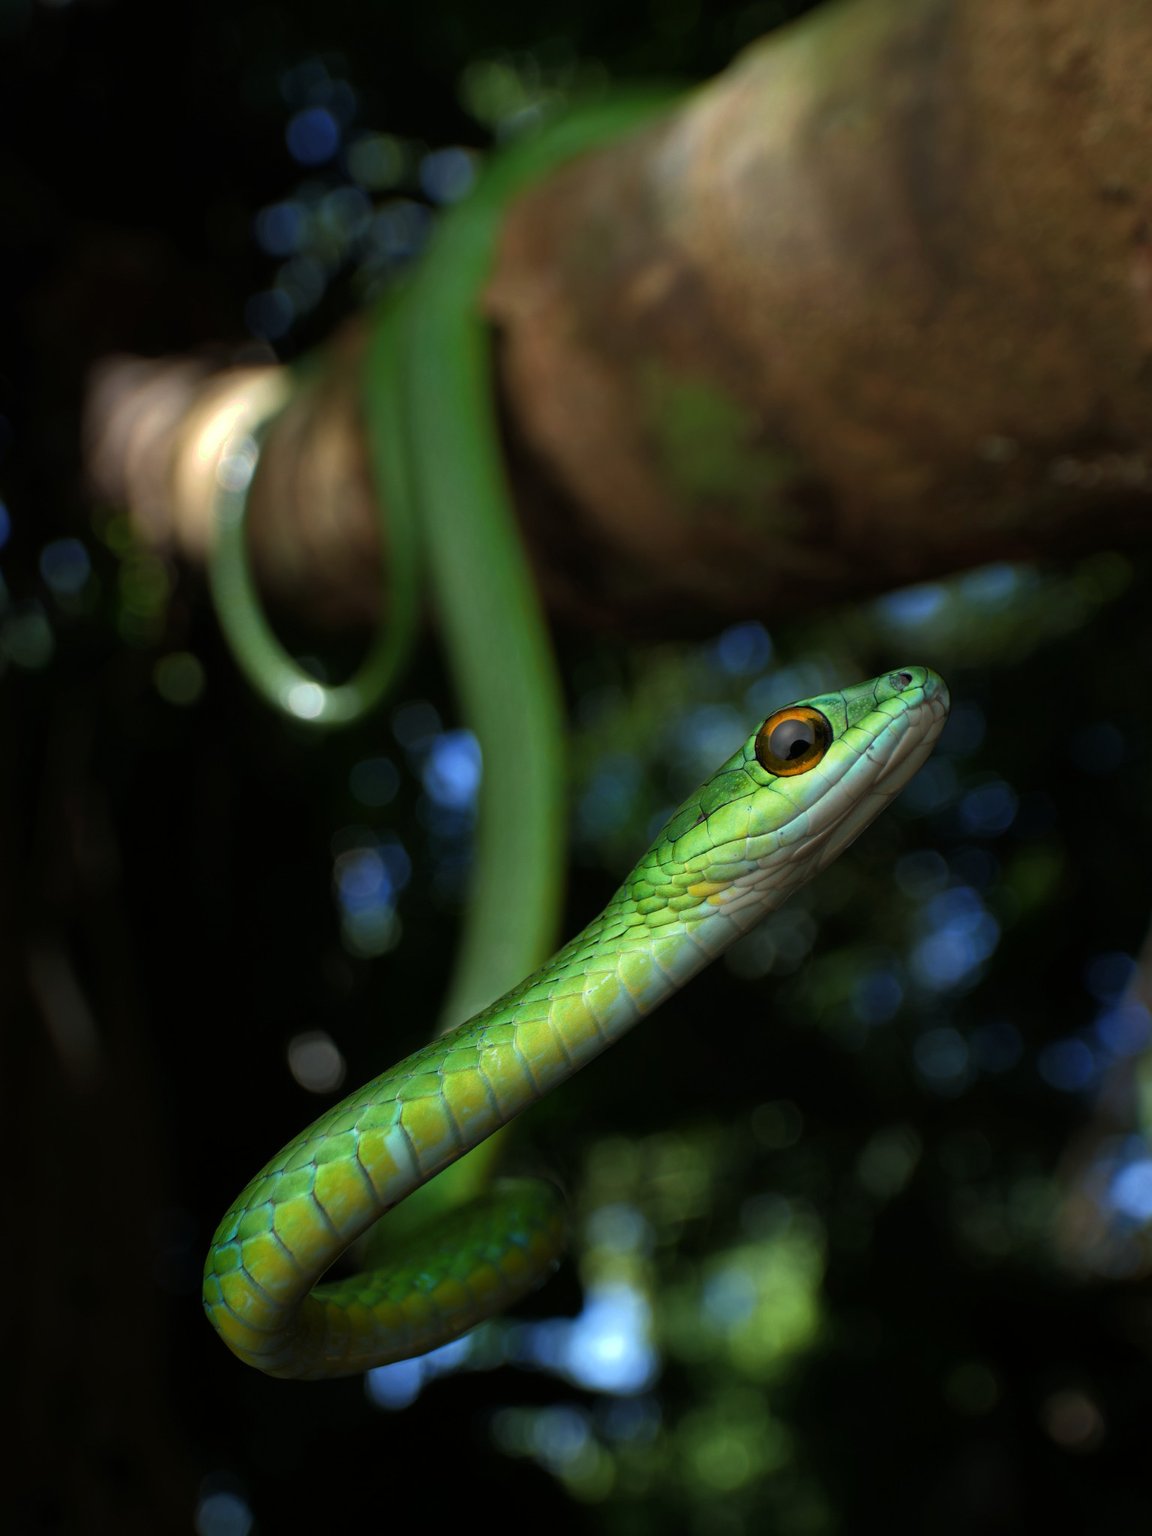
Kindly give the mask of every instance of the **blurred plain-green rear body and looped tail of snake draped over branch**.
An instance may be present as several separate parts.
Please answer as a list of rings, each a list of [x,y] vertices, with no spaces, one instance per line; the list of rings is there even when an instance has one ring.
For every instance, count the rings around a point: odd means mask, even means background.
[[[562,690],[505,482],[478,296],[510,201],[565,161],[644,127],[670,100],[667,89],[616,92],[502,146],[475,190],[441,215],[415,273],[376,304],[362,395],[387,624],[347,682],[321,682],[284,650],[247,561],[249,492],[289,396],[286,370],[237,409],[220,445],[212,596],[241,671],[287,716],[347,725],[393,691],[427,578],[461,713],[484,754],[467,915],[441,1031],[541,963],[556,943],[562,899]],[[301,372],[323,376],[323,367]],[[422,1220],[485,1184],[498,1141],[436,1180],[406,1217]]]

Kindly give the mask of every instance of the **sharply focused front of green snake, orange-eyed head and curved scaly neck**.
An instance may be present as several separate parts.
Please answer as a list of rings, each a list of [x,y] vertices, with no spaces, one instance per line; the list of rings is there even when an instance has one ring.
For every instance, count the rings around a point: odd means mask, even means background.
[[[946,714],[945,684],[906,667],[757,723],[576,938],[329,1109],[247,1184],[204,1270],[229,1349],[272,1376],[349,1375],[447,1342],[536,1286],[565,1229],[542,1180],[495,1183],[384,1267],[324,1275],[831,863],[920,768]]]

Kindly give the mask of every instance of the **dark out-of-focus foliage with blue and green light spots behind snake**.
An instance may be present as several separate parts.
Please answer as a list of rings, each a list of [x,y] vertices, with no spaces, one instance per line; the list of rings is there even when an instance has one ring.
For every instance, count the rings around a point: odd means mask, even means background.
[[[200,1269],[243,1180],[419,1044],[479,753],[435,647],[318,739],[91,495],[109,353],[290,359],[505,117],[703,78],[799,5],[0,5],[0,1527],[1137,1531],[1152,1516],[1147,565],[997,565],[700,639],[562,633],[568,929],[771,708],[954,714],[811,891],[533,1112],[576,1243],[515,1316],[324,1385]],[[338,667],[356,637],[310,636]],[[1147,1092],[1144,1092],[1147,1097]],[[369,1513],[356,1513],[364,1511]]]

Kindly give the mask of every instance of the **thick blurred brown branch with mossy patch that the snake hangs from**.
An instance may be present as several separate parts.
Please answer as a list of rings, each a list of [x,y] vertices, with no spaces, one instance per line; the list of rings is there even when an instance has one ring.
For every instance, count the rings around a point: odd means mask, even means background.
[[[1149,60],[1144,0],[843,0],[522,197],[485,304],[553,610],[684,630],[1143,539]],[[356,352],[253,547],[362,617]]]

